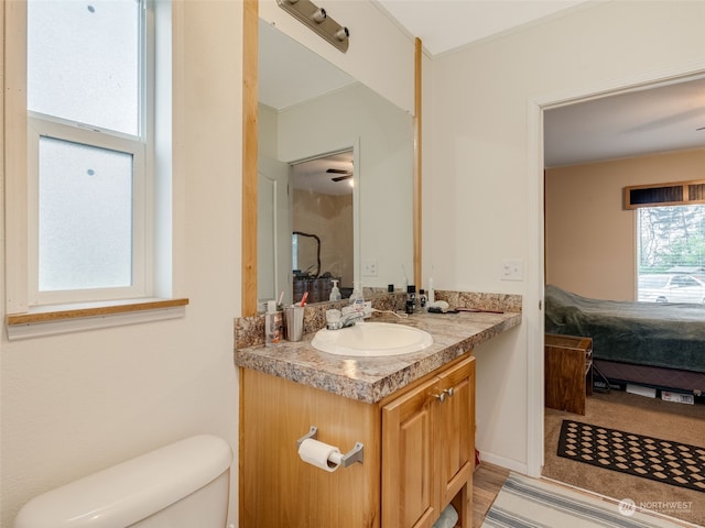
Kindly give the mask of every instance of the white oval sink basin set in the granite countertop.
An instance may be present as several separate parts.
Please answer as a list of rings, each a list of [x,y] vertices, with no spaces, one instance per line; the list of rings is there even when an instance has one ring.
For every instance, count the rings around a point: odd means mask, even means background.
[[[318,330],[311,344],[329,354],[377,358],[419,352],[433,344],[424,330],[389,322],[358,322],[340,330]]]

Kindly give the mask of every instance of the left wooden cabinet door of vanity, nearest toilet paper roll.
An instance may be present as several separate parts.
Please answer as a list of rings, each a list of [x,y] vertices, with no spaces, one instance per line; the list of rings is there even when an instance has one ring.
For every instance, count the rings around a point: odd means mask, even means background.
[[[438,517],[433,408],[437,380],[382,407],[382,527],[422,528]]]

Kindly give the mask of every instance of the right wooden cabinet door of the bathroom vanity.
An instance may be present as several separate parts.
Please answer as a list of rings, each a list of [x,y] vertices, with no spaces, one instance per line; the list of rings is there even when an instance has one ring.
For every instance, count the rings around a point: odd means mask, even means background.
[[[471,490],[475,466],[475,358],[468,358],[438,375],[445,394],[436,419],[437,463],[442,505],[448,504],[467,483]],[[469,494],[471,497],[471,494]]]

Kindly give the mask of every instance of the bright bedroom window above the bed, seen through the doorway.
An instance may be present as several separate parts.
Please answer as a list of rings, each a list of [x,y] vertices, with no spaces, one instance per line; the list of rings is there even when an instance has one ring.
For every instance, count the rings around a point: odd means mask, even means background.
[[[642,207],[637,299],[705,302],[705,206]]]

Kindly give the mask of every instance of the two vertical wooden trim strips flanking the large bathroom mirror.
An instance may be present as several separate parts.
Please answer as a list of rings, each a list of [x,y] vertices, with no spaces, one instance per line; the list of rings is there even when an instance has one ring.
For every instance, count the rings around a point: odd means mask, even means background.
[[[242,275],[241,315],[257,316],[257,156],[259,0],[242,2]],[[413,263],[421,285],[421,68],[423,46],[414,42]]]

